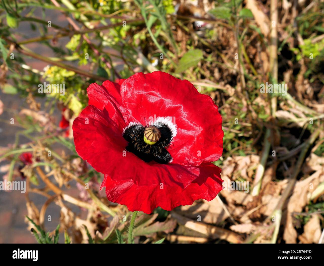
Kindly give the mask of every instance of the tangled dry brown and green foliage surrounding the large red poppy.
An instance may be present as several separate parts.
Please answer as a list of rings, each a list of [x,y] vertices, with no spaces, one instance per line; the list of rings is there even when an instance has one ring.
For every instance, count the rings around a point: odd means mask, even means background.
[[[135,243],[323,243],[323,10],[323,0],[2,0],[0,171],[26,178],[31,234],[126,241],[131,213],[98,190],[102,176],[77,156],[71,125],[90,83],[161,70],[214,99],[225,134],[215,164],[226,184],[248,181],[249,191],[142,213]],[[65,95],[40,95],[44,81],[65,84]],[[287,94],[261,93],[266,82]],[[0,193],[10,206],[19,191]]]

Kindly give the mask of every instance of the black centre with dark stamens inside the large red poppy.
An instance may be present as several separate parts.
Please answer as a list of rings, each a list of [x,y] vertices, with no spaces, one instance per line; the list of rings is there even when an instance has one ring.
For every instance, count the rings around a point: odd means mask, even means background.
[[[158,134],[155,144],[149,145],[145,142],[144,136],[151,140],[150,131]],[[161,136],[160,136],[161,135]],[[155,123],[154,126],[132,125],[125,129],[123,138],[128,141],[127,151],[133,152],[136,156],[145,162],[156,161],[157,163],[169,163],[172,159],[167,151],[172,139],[171,130],[162,123]]]

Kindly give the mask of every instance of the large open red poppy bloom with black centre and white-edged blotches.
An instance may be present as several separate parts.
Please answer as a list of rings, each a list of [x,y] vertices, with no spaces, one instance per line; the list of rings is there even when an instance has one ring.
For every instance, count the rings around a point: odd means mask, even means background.
[[[73,122],[75,149],[105,174],[108,200],[130,211],[171,210],[222,190],[222,118],[212,99],[164,72],[92,83]]]

